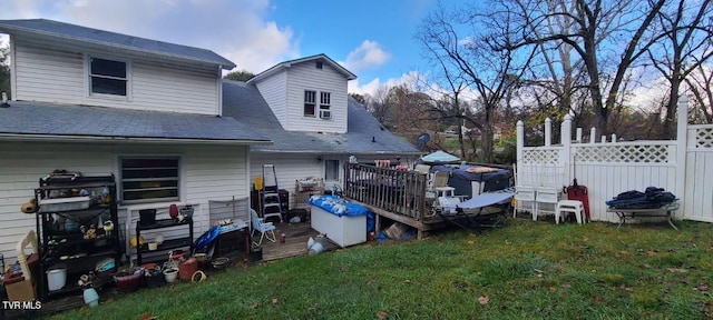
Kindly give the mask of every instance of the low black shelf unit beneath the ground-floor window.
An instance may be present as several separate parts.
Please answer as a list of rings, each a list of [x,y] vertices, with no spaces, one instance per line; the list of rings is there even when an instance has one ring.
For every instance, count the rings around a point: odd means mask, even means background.
[[[159,261],[166,260],[167,256],[156,256],[160,252],[168,253],[168,250],[186,248],[188,247],[189,251],[193,251],[193,219],[186,218],[183,221],[173,220],[173,219],[158,219],[152,224],[141,224],[140,221],[136,223],[136,238],[141,239],[141,231],[147,230],[156,230],[164,228],[177,228],[177,227],[188,227],[188,236],[182,238],[166,239],[162,242],[156,250],[148,250],[148,243],[144,243],[143,246],[136,249],[136,262],[137,264],[143,264],[147,261]],[[145,257],[152,256],[152,258],[146,259]],[[157,258],[158,257],[158,258]]]

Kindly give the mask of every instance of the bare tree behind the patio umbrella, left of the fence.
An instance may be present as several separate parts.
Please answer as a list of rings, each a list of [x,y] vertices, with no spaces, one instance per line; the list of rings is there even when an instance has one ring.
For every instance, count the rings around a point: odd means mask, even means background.
[[[504,102],[512,79],[521,77],[533,52],[518,52],[511,41],[509,17],[495,20],[492,13],[477,10],[438,10],[426,18],[416,38],[427,57],[442,70],[445,86],[450,90],[458,119],[472,122],[481,131],[481,160],[492,161],[492,117]],[[506,30],[501,32],[499,30]],[[524,50],[527,51],[527,50]],[[481,117],[466,118],[460,109],[460,93],[465,88],[478,96],[482,106]],[[460,121],[459,121],[460,122]],[[460,126],[459,126],[460,127]],[[462,133],[460,136],[461,150]],[[465,152],[465,151],[463,151]]]

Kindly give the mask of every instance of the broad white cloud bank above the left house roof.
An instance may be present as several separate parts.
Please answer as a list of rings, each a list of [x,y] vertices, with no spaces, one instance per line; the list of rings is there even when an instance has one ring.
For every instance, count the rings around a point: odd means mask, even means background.
[[[0,19],[46,18],[205,48],[256,73],[300,56],[292,29],[265,19],[273,9],[268,0],[14,0]]]

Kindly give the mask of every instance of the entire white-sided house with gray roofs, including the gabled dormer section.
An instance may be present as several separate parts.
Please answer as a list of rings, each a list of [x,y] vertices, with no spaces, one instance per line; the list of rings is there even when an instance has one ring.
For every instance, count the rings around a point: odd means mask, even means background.
[[[197,237],[247,212],[262,164],[274,164],[293,193],[307,177],[341,184],[350,157],[409,163],[420,154],[348,96],[356,77],[324,54],[240,82],[221,79],[235,64],[205,49],[45,19],[0,20],[0,32],[10,34],[12,61],[13,100],[0,108],[0,252],[9,262],[36,228],[20,206],[58,169],[115,174],[126,239],[138,210],[165,217],[170,204],[196,208]],[[176,173],[158,180],[176,186],[125,190],[130,163],[162,161]]]

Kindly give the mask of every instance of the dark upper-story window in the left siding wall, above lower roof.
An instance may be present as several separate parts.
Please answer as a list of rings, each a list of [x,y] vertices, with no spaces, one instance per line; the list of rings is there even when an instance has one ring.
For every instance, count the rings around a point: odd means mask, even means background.
[[[89,92],[126,97],[127,73],[124,61],[89,58]]]

